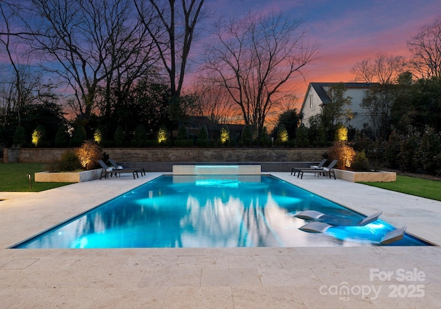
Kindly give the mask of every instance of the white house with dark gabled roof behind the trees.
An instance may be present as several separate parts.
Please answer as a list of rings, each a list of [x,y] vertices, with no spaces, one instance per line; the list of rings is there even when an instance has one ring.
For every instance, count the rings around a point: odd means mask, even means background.
[[[322,108],[325,108],[326,104],[331,103],[331,99],[327,94],[327,91],[331,86],[336,86],[339,83],[309,83],[308,90],[303,99],[302,108],[300,112],[303,114],[302,123],[309,127],[309,119],[320,114]],[[369,114],[365,108],[360,106],[365,91],[373,86],[380,85],[379,83],[344,83],[346,92],[345,97],[351,97],[351,105],[345,107],[350,109],[353,113],[353,119],[348,123],[344,123],[352,126],[356,129],[362,129],[364,123],[369,123]]]

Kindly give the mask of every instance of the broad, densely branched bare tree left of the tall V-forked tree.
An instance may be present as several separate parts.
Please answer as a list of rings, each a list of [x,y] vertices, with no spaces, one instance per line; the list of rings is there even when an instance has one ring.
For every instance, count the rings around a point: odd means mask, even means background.
[[[150,54],[150,35],[133,17],[124,0],[32,0],[38,31],[34,48],[57,63],[52,70],[74,90],[76,113],[89,119],[96,94],[105,85],[107,112],[112,82],[132,83],[156,57]],[[135,14],[136,15],[136,14]]]

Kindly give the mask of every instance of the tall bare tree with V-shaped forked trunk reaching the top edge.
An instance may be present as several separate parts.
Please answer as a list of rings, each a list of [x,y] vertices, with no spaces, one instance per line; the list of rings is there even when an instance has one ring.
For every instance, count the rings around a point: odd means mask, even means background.
[[[204,17],[204,0],[134,0],[134,3],[167,72],[172,97],[179,97],[196,25]]]

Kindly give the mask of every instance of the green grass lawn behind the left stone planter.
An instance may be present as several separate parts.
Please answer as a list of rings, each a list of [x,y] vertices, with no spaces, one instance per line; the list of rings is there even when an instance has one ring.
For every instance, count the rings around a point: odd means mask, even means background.
[[[43,171],[44,163],[0,163],[0,191],[40,192],[70,184],[66,182],[35,182],[34,173]],[[28,174],[31,175],[32,190]]]

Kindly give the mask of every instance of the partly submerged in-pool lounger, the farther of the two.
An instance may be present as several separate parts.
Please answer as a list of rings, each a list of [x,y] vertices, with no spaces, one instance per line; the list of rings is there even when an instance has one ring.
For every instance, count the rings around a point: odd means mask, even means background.
[[[347,219],[342,217],[336,217],[331,215],[325,215],[323,212],[316,210],[304,210],[294,215],[296,218],[318,221],[327,223],[330,226],[366,226],[367,224],[376,221],[380,217],[382,211],[376,212],[365,219],[354,221],[353,219]]]

